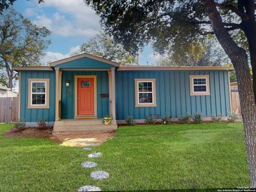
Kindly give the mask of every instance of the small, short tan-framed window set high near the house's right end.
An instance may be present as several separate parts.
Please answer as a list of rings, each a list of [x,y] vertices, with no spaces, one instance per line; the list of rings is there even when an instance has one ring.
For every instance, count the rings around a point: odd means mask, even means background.
[[[210,95],[209,75],[195,75],[190,78],[190,95]]]

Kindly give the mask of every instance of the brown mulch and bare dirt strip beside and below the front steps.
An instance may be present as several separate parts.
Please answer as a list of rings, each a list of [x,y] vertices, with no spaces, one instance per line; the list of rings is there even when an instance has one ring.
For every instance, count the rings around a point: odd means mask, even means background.
[[[106,140],[111,139],[115,136],[114,131],[110,132],[97,132],[97,133],[75,133],[75,134],[60,134],[60,135],[52,135],[53,128],[25,128],[23,130],[17,130],[15,128],[10,129],[9,131],[4,133],[4,137],[18,138],[49,138],[56,143],[62,143],[67,140],[72,139],[86,139],[88,141],[94,140],[97,145],[104,143]],[[91,139],[89,139],[91,138]]]

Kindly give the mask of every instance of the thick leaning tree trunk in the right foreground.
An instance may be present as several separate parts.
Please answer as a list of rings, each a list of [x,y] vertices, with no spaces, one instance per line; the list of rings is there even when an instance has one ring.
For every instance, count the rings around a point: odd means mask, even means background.
[[[239,99],[244,123],[247,161],[250,171],[250,186],[256,187],[256,105],[250,76],[247,54],[239,47],[222,23],[221,16],[213,0],[204,0],[205,9],[211,26],[220,45],[223,47],[234,65]]]

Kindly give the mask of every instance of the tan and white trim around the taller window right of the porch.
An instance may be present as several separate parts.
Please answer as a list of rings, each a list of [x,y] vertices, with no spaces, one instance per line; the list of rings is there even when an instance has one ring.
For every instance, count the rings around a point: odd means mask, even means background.
[[[135,81],[135,107],[155,107],[156,106],[156,79],[134,79]],[[139,82],[151,82],[152,91],[139,92]],[[151,93],[153,103],[139,103],[140,93]]]

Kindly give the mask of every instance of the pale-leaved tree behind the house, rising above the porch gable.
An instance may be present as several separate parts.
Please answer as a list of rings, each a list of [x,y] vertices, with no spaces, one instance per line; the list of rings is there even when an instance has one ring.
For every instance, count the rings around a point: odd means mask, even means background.
[[[135,57],[126,52],[123,45],[115,43],[109,35],[103,32],[83,43],[79,47],[79,51],[73,53],[73,55],[81,53],[92,54],[121,64],[133,64],[136,62]]]

